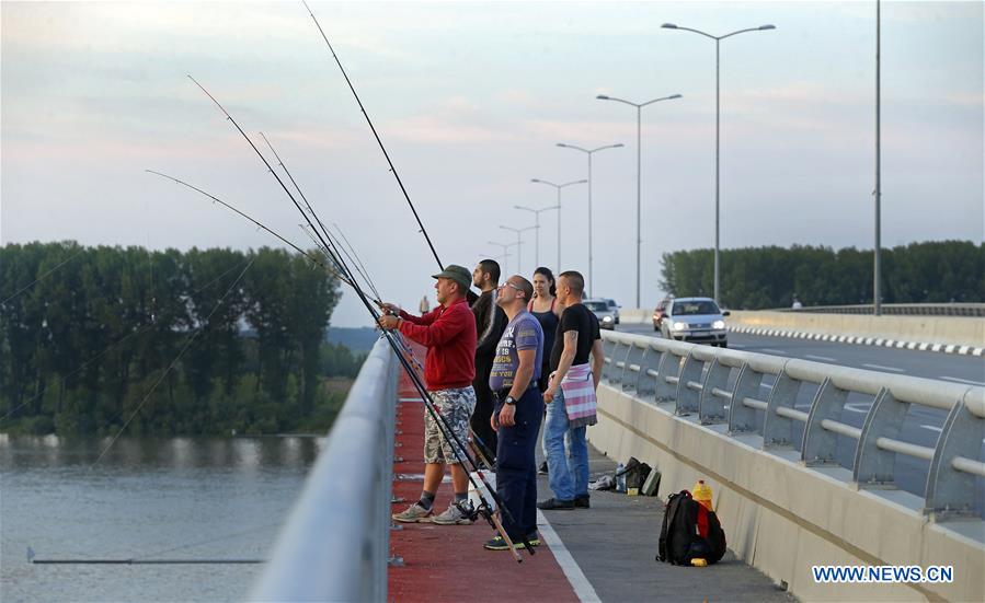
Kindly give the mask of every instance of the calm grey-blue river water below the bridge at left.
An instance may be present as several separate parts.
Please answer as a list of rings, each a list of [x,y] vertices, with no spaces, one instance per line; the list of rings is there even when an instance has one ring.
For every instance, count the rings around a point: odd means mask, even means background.
[[[0,434],[0,601],[239,601],[263,565],[36,559],[265,559],[320,438]]]

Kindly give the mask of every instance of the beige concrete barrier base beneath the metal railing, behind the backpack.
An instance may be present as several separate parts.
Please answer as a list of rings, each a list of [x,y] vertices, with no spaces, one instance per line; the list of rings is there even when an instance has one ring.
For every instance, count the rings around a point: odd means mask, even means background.
[[[759,450],[758,436],[729,437],[724,425],[675,416],[673,402],[643,402],[604,383],[598,413],[593,445],[657,467],[663,498],[703,478],[729,547],[805,601],[985,600],[977,518],[930,522],[904,500],[913,495],[858,490],[844,469],[808,467],[797,451]],[[816,565],[953,566],[954,573],[952,583],[817,583]]]

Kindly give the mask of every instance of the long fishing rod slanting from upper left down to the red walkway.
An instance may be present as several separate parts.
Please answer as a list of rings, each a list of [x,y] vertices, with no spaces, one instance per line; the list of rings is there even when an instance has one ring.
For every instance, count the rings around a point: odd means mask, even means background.
[[[221,111],[222,114],[226,115],[226,118],[232,123],[232,125],[240,132],[240,135],[244,139],[247,139],[247,142],[250,144],[250,147],[253,149],[253,151],[256,153],[256,155],[260,158],[260,160],[263,162],[263,164],[266,165],[267,171],[274,176],[274,178],[277,181],[277,184],[280,185],[280,188],[284,190],[284,193],[287,194],[287,197],[290,199],[291,204],[295,206],[295,208],[298,210],[298,212],[305,218],[305,221],[308,222],[308,225],[311,227],[311,230],[314,232],[314,234],[319,239],[322,240],[322,244],[324,245],[324,247],[331,250],[332,246],[330,245],[330,243],[325,242],[321,237],[318,230],[314,228],[314,224],[311,222],[311,218],[308,217],[308,213],[301,208],[300,204],[298,204],[298,201],[297,201],[297,199],[295,199],[294,195],[290,194],[290,190],[284,184],[284,181],[280,179],[280,176],[277,175],[276,171],[274,171],[274,169],[271,166],[270,162],[266,160],[266,158],[263,155],[263,153],[260,152],[260,150],[256,148],[256,146],[253,143],[253,141],[250,139],[250,137],[247,136],[247,132],[243,131],[243,129],[236,121],[236,119],[232,117],[232,115],[230,115],[229,112],[226,111],[226,108],[216,100],[216,97],[213,96],[201,83],[198,83],[198,81],[196,81],[195,78],[193,78],[192,76],[188,76],[188,79],[191,79],[195,83],[195,85],[197,85],[206,94],[206,96],[208,96],[213,101],[213,103],[215,103],[215,105],[219,108],[219,111]],[[286,167],[285,167],[285,170],[286,170]],[[309,206],[309,209],[310,209],[310,206]],[[311,209],[311,211],[313,213],[314,210]],[[365,294],[363,289],[358,286],[358,283],[355,281],[355,279],[352,278],[352,271],[347,268],[345,263],[339,257],[337,254],[334,254],[334,255],[335,255],[335,257],[333,258],[334,262],[339,266],[341,266],[344,269],[345,274],[348,275],[348,277],[350,277],[347,285],[350,287],[352,287],[353,291],[355,291],[356,295],[359,298],[359,301],[363,302],[363,305],[366,306],[366,310],[369,312],[369,315],[373,317],[374,322],[378,322],[380,314],[373,306],[373,303],[370,303],[369,299],[367,298],[367,295]],[[378,305],[382,306],[381,303],[378,303]],[[413,370],[413,367],[406,360],[406,358],[404,358],[404,356],[402,353],[400,353],[401,346],[399,344],[397,344],[393,334],[390,333],[388,329],[382,329],[382,333],[387,339],[387,343],[390,345],[391,349],[396,352],[394,355],[397,356],[397,359],[400,361],[400,363],[403,367],[404,371],[406,372],[408,376],[411,379],[411,382],[414,384],[414,387],[421,394],[421,398],[424,401],[424,406],[427,409],[427,411],[431,414],[432,418],[434,419],[435,425],[439,426],[439,429],[445,434],[446,440],[454,441],[455,444],[458,447],[458,450],[456,450],[455,445],[450,447],[456,459],[462,465],[465,465],[465,461],[468,461],[468,466],[472,467],[472,472],[466,471],[466,476],[468,477],[469,482],[471,482],[472,486],[476,487],[477,491],[482,491],[481,488],[479,487],[479,484],[477,484],[474,478],[472,477],[472,473],[474,472],[474,474],[477,476],[479,476],[479,480],[482,482],[483,486],[485,486],[485,489],[490,494],[493,501],[501,509],[501,513],[503,514],[503,517],[507,521],[509,521],[509,523],[512,523],[514,526],[519,529],[520,527],[519,522],[515,520],[515,518],[513,517],[513,513],[503,503],[499,494],[496,494],[496,491],[489,485],[489,482],[486,482],[484,475],[481,472],[479,472],[478,464],[471,457],[471,455],[469,455],[466,447],[461,443],[461,440],[458,438],[458,436],[451,430],[451,427],[448,425],[445,417],[442,416],[442,414],[437,411],[435,404],[434,404],[434,399],[431,397],[431,394],[427,392],[427,389],[426,389],[425,384],[423,383],[423,381],[421,380],[420,375],[416,373],[416,371]],[[450,436],[450,438],[449,438],[449,436]],[[467,468],[467,467],[463,466],[462,468]],[[508,534],[506,533],[506,530],[503,527],[500,520],[495,517],[495,514],[490,509],[488,501],[483,497],[480,497],[480,500],[482,502],[479,507],[479,510],[474,511],[474,512],[481,512],[483,518],[485,518],[486,521],[490,522],[490,524],[496,530],[496,532],[499,532],[500,536],[507,544],[511,553],[513,554],[513,556],[517,560],[517,563],[522,563],[523,557],[520,557],[519,554],[516,552],[516,548],[513,546],[513,541],[509,538]],[[524,547],[529,552],[530,555],[534,555],[535,550],[534,550],[534,547],[530,545],[527,534],[524,533],[523,530],[519,530],[519,532],[522,533]]]

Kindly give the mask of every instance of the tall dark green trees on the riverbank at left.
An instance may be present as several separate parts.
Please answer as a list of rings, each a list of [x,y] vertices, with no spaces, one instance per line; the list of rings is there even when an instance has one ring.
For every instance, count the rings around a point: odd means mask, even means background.
[[[340,295],[283,250],[5,245],[0,430],[324,429],[344,393],[323,379],[362,363],[324,340]]]

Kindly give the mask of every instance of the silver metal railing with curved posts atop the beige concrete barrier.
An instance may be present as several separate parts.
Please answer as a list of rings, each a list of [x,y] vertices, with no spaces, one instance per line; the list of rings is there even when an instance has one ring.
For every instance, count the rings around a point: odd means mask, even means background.
[[[983,387],[626,333],[603,333],[603,380],[610,386],[643,401],[674,403],[676,415],[697,414],[702,425],[726,424],[732,436],[759,434],[764,449],[793,448],[794,428],[803,424],[800,454],[806,465],[837,464],[838,436],[850,438],[859,488],[893,488],[897,454],[929,461],[924,513],[941,521],[978,512],[975,477],[985,477]],[[764,384],[766,375],[775,382]],[[804,384],[817,386],[809,411],[795,407]],[[851,393],[872,396],[861,428],[840,419]],[[947,411],[936,447],[900,439],[910,405]]]

